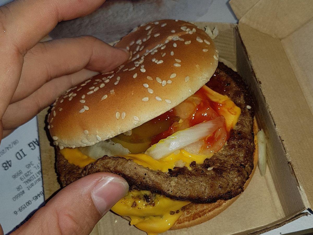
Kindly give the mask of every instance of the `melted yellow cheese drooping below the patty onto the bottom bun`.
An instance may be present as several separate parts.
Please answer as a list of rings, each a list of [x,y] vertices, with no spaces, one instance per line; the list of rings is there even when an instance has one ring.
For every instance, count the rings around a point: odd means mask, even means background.
[[[153,204],[146,202],[144,195],[150,191],[133,190],[118,201],[112,211],[131,218],[131,224],[149,235],[162,233],[170,229],[182,214],[181,208],[189,201],[178,201],[160,194],[153,194]]]

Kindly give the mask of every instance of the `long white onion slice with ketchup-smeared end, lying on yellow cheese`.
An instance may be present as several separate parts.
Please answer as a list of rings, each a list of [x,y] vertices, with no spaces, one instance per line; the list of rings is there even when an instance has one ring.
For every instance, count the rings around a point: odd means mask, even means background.
[[[189,144],[195,143],[200,139],[213,134],[213,132],[225,122],[223,116],[213,120],[199,123],[190,128],[177,131],[165,139],[161,139],[157,144],[153,144],[147,149],[148,154],[153,159],[161,159],[172,154],[175,150],[180,150]]]

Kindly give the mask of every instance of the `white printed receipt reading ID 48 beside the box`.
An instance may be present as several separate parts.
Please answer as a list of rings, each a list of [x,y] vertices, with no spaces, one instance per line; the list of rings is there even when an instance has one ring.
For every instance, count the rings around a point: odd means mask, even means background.
[[[37,118],[1,141],[0,178],[0,223],[7,234],[44,204]]]

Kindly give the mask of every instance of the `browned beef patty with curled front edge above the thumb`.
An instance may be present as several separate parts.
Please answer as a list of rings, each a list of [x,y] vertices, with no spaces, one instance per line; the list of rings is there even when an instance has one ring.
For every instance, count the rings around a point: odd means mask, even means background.
[[[177,200],[211,203],[240,194],[253,169],[253,102],[238,73],[223,63],[219,63],[207,86],[227,95],[241,109],[241,114],[227,144],[203,164],[193,162],[192,170],[175,167],[161,172],[123,157],[104,156],[80,168],[69,164],[57,150],[57,168],[62,185],[68,185],[85,175],[105,171],[124,177],[131,189],[150,190]],[[252,108],[248,109],[247,105]],[[213,169],[208,170],[209,167]]]

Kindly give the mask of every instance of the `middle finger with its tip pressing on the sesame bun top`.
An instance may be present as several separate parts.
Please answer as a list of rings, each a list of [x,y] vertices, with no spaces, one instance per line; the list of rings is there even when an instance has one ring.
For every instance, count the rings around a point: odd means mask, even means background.
[[[83,68],[108,72],[128,58],[124,50],[90,36],[38,43],[24,56],[21,78],[11,103],[29,96],[53,78]]]

